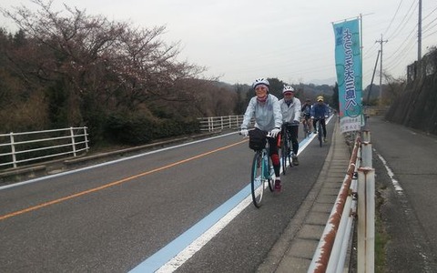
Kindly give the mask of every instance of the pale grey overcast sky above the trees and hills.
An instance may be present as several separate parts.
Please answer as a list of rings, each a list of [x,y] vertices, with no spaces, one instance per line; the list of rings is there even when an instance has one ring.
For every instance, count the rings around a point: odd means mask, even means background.
[[[208,67],[229,84],[277,77],[289,84],[335,82],[333,22],[362,15],[363,86],[371,83],[378,50],[382,70],[406,76],[418,57],[419,0],[55,0],[88,15],[141,27],[166,25],[162,38],[180,42],[181,60]],[[11,10],[30,0],[2,0]],[[14,30],[0,15],[0,24]],[[15,30],[14,30],[15,31]],[[376,43],[377,40],[387,43]],[[437,46],[437,1],[422,0],[422,56]],[[334,78],[334,79],[333,79]],[[328,80],[330,79],[330,80]],[[317,80],[317,81],[316,81]],[[379,84],[379,66],[374,82]]]

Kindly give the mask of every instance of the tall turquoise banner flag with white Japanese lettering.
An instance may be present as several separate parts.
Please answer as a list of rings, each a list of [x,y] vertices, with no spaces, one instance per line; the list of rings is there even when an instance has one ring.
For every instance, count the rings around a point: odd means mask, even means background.
[[[339,85],[340,132],[359,131],[362,118],[360,21],[333,24],[335,67]]]

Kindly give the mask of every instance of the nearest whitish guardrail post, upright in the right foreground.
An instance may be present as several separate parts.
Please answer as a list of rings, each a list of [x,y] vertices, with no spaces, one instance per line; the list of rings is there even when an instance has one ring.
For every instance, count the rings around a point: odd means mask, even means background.
[[[358,272],[373,273],[375,267],[375,170],[358,169]]]

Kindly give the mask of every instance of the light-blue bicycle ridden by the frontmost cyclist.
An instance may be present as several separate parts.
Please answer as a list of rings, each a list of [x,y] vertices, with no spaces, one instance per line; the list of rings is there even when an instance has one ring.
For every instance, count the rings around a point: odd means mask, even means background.
[[[267,133],[266,137],[272,136]],[[261,200],[264,196],[266,183],[269,185],[270,192],[273,192],[275,185],[273,179],[273,164],[269,157],[269,141],[266,141],[266,145],[263,148],[256,150],[253,157],[250,190],[255,207],[261,207]]]

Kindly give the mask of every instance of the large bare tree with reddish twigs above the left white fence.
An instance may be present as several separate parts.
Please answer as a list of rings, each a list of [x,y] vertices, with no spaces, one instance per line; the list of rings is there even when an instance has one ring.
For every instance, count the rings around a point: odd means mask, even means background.
[[[164,26],[137,28],[67,5],[55,11],[53,0],[31,2],[38,10],[1,9],[20,27],[22,46],[7,56],[26,86],[44,90],[55,126],[102,129],[114,113],[153,118],[149,108],[157,103],[198,102],[190,79],[205,68],[178,61],[178,43],[160,39]]]

